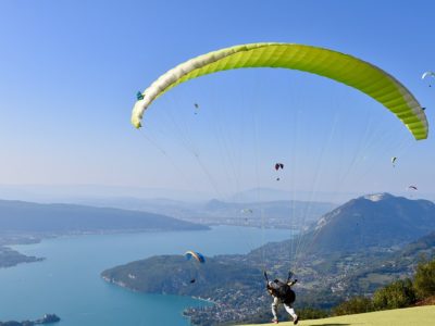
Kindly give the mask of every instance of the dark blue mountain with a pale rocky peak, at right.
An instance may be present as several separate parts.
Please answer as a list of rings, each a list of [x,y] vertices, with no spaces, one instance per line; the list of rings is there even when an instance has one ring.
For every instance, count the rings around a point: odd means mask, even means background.
[[[316,252],[357,251],[413,241],[435,229],[435,204],[389,193],[359,197],[322,216],[306,236]]]

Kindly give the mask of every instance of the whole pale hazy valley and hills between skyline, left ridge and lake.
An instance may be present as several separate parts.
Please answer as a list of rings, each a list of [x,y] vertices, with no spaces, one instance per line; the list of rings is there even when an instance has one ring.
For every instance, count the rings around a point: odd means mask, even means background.
[[[252,188],[223,199],[212,193],[170,189],[102,186],[0,186],[0,198],[62,202],[98,208],[142,211],[203,225],[238,225],[269,228],[308,227],[338,204],[330,200],[351,198],[311,191]],[[176,199],[176,200],[174,200]],[[249,213],[248,213],[249,212]],[[248,214],[247,214],[248,213]]]

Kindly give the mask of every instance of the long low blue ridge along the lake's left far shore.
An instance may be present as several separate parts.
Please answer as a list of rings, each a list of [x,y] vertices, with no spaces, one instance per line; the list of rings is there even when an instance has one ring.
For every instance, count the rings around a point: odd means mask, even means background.
[[[206,228],[206,226],[147,212],[0,200],[0,233],[3,234]]]

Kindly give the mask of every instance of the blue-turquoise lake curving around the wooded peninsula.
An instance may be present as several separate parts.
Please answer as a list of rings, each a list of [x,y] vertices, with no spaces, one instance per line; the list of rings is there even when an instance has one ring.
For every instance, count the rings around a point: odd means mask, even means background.
[[[144,294],[107,284],[103,269],[156,254],[192,249],[211,256],[247,253],[289,230],[217,226],[207,231],[69,236],[14,246],[44,262],[0,268],[0,321],[55,313],[62,326],[189,325],[187,306],[207,302],[178,296]]]

